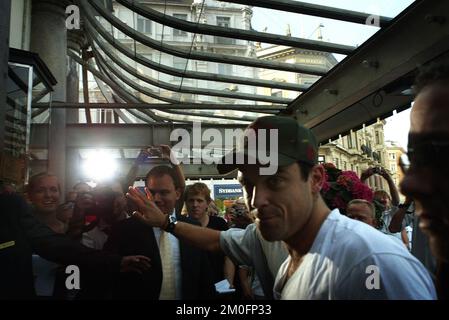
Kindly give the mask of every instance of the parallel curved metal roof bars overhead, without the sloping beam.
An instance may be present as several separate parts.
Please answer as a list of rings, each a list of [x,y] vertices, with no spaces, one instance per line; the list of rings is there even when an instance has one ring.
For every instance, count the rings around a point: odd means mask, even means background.
[[[247,31],[247,30],[239,30],[239,29],[229,29],[219,26],[211,26],[211,25],[201,25],[199,21],[197,23],[194,22],[188,22],[183,23],[182,20],[171,18],[165,14],[158,13],[150,8],[145,8],[144,6],[130,3],[129,1],[118,1],[122,5],[127,6],[128,8],[133,9],[134,12],[138,14],[142,14],[143,16],[146,16],[147,18],[152,18],[153,20],[163,23],[167,26],[176,26],[177,28],[180,28],[181,30],[189,29],[189,31],[194,31],[196,33],[202,33],[202,34],[210,34],[215,36],[232,36],[233,38],[237,39],[246,39],[246,40],[252,40],[252,41],[260,41],[260,42],[267,42],[272,44],[282,44],[282,45],[292,45],[295,47],[301,47],[303,49],[312,49],[312,50],[323,50],[327,52],[336,52],[336,53],[342,53],[342,54],[349,54],[354,50],[354,47],[350,46],[343,46],[338,44],[332,44],[332,43],[325,43],[322,41],[314,41],[314,40],[307,40],[307,39],[298,39],[298,38],[292,38],[287,36],[279,36],[279,35],[273,35],[273,34],[266,34],[262,32],[256,32],[256,31]],[[276,70],[288,70],[288,71],[300,71],[306,74],[314,74],[314,75],[322,75],[326,70],[320,70],[320,68],[316,67],[303,67],[303,66],[294,66],[292,67],[291,64],[287,63],[273,63],[272,61],[266,61],[266,60],[257,60],[252,58],[245,58],[245,57],[233,57],[233,56],[226,56],[226,55],[220,55],[220,54],[210,54],[210,53],[202,53],[197,51],[183,51],[183,49],[175,48],[173,46],[159,43],[159,41],[156,41],[154,39],[151,39],[150,37],[141,34],[134,30],[133,28],[127,26],[125,23],[120,21],[118,18],[114,17],[109,11],[110,8],[104,7],[104,3],[100,3],[95,0],[88,0],[86,2],[77,1],[77,3],[82,8],[84,17],[85,17],[85,30],[88,33],[88,38],[90,39],[90,44],[92,48],[94,49],[94,56],[95,60],[97,61],[97,64],[99,65],[99,68],[101,68],[102,72],[107,72],[109,75],[109,79],[111,79],[113,82],[117,83],[117,78],[120,79],[121,82],[126,83],[126,85],[130,86],[134,90],[137,90],[137,92],[141,92],[145,94],[146,96],[152,97],[153,99],[160,100],[162,102],[167,103],[179,103],[180,101],[177,101],[176,99],[168,98],[168,97],[158,97],[156,93],[152,92],[151,90],[143,87],[140,84],[137,84],[136,82],[132,81],[131,79],[127,78],[122,72],[120,72],[117,68],[114,67],[114,64],[119,66],[120,69],[125,70],[127,73],[131,74],[132,76],[159,88],[163,88],[166,90],[171,90],[172,92],[179,92],[179,93],[190,93],[190,94],[196,94],[196,95],[208,95],[208,96],[215,96],[215,97],[223,97],[223,98],[230,98],[230,99],[243,99],[243,100],[251,100],[251,101],[260,101],[260,102],[268,102],[268,103],[283,103],[288,104],[290,102],[289,99],[285,98],[278,98],[278,97],[265,97],[257,94],[244,94],[239,92],[225,92],[225,91],[219,91],[219,90],[211,90],[211,89],[201,89],[201,88],[189,88],[186,86],[177,86],[169,83],[164,83],[163,81],[151,79],[150,77],[147,77],[145,75],[141,75],[138,72],[134,71],[133,68],[126,64],[124,61],[122,61],[118,56],[112,53],[113,50],[109,50],[109,45],[114,47],[115,49],[118,49],[122,54],[125,54],[128,58],[141,63],[142,65],[149,67],[153,70],[157,70],[159,72],[167,73],[174,76],[180,76],[181,79],[184,78],[192,78],[192,79],[202,79],[202,80],[208,80],[208,81],[220,81],[220,82],[226,82],[226,83],[235,83],[235,84],[244,84],[244,85],[250,85],[250,86],[262,86],[262,87],[268,87],[271,89],[282,89],[282,90],[295,90],[295,91],[305,91],[308,88],[306,86],[299,86],[294,84],[288,84],[288,83],[276,83],[274,81],[266,81],[266,80],[254,80],[250,78],[244,78],[239,76],[222,76],[222,75],[211,75],[204,72],[192,72],[192,71],[181,71],[176,68],[163,66],[161,64],[157,64],[152,62],[149,59],[146,59],[145,57],[137,54],[135,52],[132,52],[132,50],[128,49],[126,45],[121,45],[118,41],[114,39],[114,37],[109,34],[104,27],[97,21],[95,18],[94,11],[99,14],[102,18],[106,19],[111,26],[117,28],[121,32],[123,32],[125,35],[131,37],[133,41],[138,41],[139,43],[143,45],[147,45],[153,49],[160,50],[161,52],[165,52],[168,54],[172,54],[175,56],[187,58],[187,59],[200,59],[204,61],[211,61],[211,62],[219,62],[219,63],[232,63],[232,64],[238,64],[238,65],[246,65],[246,66],[254,66],[254,67],[265,67],[265,68],[272,68]],[[92,10],[93,9],[93,10]],[[95,33],[95,31],[98,31],[101,34],[101,37],[106,40],[109,45],[106,45],[103,40],[99,39],[99,36]],[[194,39],[194,37],[193,37]],[[192,41],[193,41],[192,39]],[[192,43],[193,45],[193,43]],[[96,49],[97,46],[102,50],[103,54],[108,56],[108,59],[111,59],[114,63],[107,63],[104,61],[104,56],[101,55],[98,50]],[[114,74],[112,76],[111,74]],[[117,77],[117,78],[115,78]],[[113,79],[115,78],[115,80]],[[181,82],[182,83],[182,82]],[[121,86],[120,86],[121,87]],[[87,109],[86,109],[87,110]],[[198,109],[201,110],[201,109]],[[141,110],[141,112],[147,113],[146,110]],[[178,114],[181,115],[181,113],[178,111]],[[183,112],[183,114],[186,114]],[[196,115],[196,114],[195,114]],[[204,114],[201,111],[199,111],[198,116],[210,116],[209,114]],[[154,117],[154,113],[151,115],[152,118]],[[226,117],[219,116],[221,118],[226,119]],[[163,117],[158,117],[158,120],[162,120]],[[232,119],[232,117],[228,117],[229,120]],[[250,120],[252,118],[245,118],[241,117],[242,120]],[[170,119],[167,119],[170,120]]]

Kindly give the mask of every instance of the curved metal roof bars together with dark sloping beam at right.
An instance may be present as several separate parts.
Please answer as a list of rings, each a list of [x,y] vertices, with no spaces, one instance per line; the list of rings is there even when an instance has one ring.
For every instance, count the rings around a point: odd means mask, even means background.
[[[292,68],[291,65],[287,67],[286,65],[288,64],[286,63],[280,64],[272,63],[272,61],[261,61],[252,58],[224,56],[209,53],[203,54],[202,52],[188,52],[179,48],[174,48],[168,44],[161,45],[160,41],[156,41],[144,34],[139,33],[137,30],[127,26],[118,18],[114,17],[114,15],[109,11],[110,8],[104,7],[104,4],[101,4],[96,0],[79,2],[84,12],[84,17],[86,18],[85,28],[91,39],[91,45],[94,48],[95,59],[101,72],[107,72],[106,75],[109,78],[109,85],[112,83],[119,84],[118,86],[116,85],[115,88],[119,87],[121,89],[120,92],[122,97],[124,96],[124,93],[127,93],[125,94],[127,103],[132,101],[134,101],[134,103],[143,102],[139,102],[139,99],[132,97],[131,92],[127,92],[126,90],[124,91],[123,85],[120,85],[122,83],[126,83],[138,92],[142,92],[150,97],[165,102],[161,104],[160,107],[156,107],[154,104],[147,104],[148,109],[143,107],[137,108],[137,110],[147,113],[150,117],[157,118],[157,121],[164,120],[164,117],[157,117],[154,113],[148,114],[151,109],[164,112],[174,112],[179,115],[181,115],[182,112],[182,114],[191,114],[199,117],[209,117],[210,114],[201,113],[201,110],[206,110],[207,107],[202,108],[200,105],[195,103],[186,104],[184,101],[159,96],[157,93],[154,93],[148,88],[127,78],[117,67],[114,67],[114,65],[150,85],[171,90],[173,92],[184,92],[196,95],[205,94],[232,99],[248,99],[254,102],[264,101],[287,104],[289,101],[288,99],[279,99],[276,97],[265,98],[259,95],[242,94],[237,92],[220,92],[219,90],[208,90],[208,92],[205,93],[202,92],[202,89],[200,88],[190,88],[186,86],[178,87],[177,85],[157,81],[136,72],[129,64],[125,63],[119,56],[115,55],[112,52],[113,50],[111,50],[112,48],[117,49],[128,58],[142,64],[145,67],[181,78],[262,86],[272,89],[296,89],[295,91],[303,91],[302,95],[289,103],[287,108],[281,108],[282,110],[280,110],[280,112],[294,115],[298,121],[304,123],[308,127],[311,127],[317,134],[320,141],[325,141],[330,138],[335,138],[338,134],[344,134],[353,128],[359,127],[363,123],[375,121],[375,119],[379,117],[386,117],[387,115],[390,115],[394,109],[401,109],[409,105],[411,97],[397,94],[397,92],[391,94],[391,92],[389,92],[389,90],[392,90],[391,86],[395,83],[395,81],[399,81],[403,84],[405,80],[400,81],[400,79],[406,79],[407,77],[410,78],[410,73],[416,69],[417,65],[424,64],[438,55],[443,54],[447,50],[444,44],[448,43],[447,34],[445,32],[447,28],[444,28],[444,23],[439,22],[442,20],[434,19],[432,22],[432,19],[426,18],[426,16],[429,15],[437,17],[441,15],[441,13],[447,12],[447,5],[444,3],[435,4],[429,0],[415,1],[408,10],[394,19],[378,17],[380,25],[384,28],[382,28],[382,30],[372,39],[356,50],[354,50],[353,47],[340,47],[336,44],[323,43],[320,41],[315,41],[318,43],[313,41],[309,43],[307,41],[303,41],[304,39],[292,37],[286,39],[287,37],[284,36],[267,34],[253,30],[224,28],[220,26],[200,24],[198,22],[183,21],[134,1],[117,0],[117,2],[143,17],[186,32],[220,37],[232,37],[235,39],[261,41],[281,45],[292,45],[300,48],[350,54],[336,68],[331,70],[329,74],[322,77],[310,88],[295,88],[294,84],[267,80],[255,80],[238,76],[211,75],[204,72],[194,72],[189,70],[182,71],[180,69],[157,64],[142,55],[133,52],[126,45],[120,44],[97,21],[94,11],[97,16],[104,18],[111,24],[111,26],[129,36],[133,41],[138,41],[139,43],[150,46],[156,50],[186,59],[200,59],[204,61],[232,63],[246,66],[250,65],[253,67],[288,70],[290,72],[299,71],[314,75],[322,75],[324,72],[324,70],[320,71],[316,68]],[[367,19],[372,16],[367,13],[290,0],[258,0],[251,1],[251,3],[248,1],[237,0],[227,2],[243,5],[250,4],[252,6],[313,15],[358,24],[366,24]],[[414,31],[410,32],[410,30]],[[98,32],[98,34],[96,34],[96,32]],[[424,34],[426,37],[422,37],[423,39],[413,41],[413,38],[421,38],[421,35]],[[100,39],[100,35],[103,40]],[[435,46],[436,43],[438,43],[436,48],[437,50],[432,47]],[[400,48],[404,47],[406,44],[409,50],[401,50]],[[412,45],[410,46],[410,44]],[[97,48],[101,49],[102,53],[100,53]],[[106,56],[114,63],[109,63],[109,60],[106,61]],[[268,65],[267,63],[271,65]],[[177,105],[179,105],[180,108],[172,107]],[[141,104],[141,106],[143,106],[143,104]],[[187,111],[181,111],[189,108],[195,109],[196,106],[198,106],[196,110],[199,111],[199,113],[189,114]],[[256,112],[267,111],[268,113],[275,111],[269,109],[264,110],[264,107],[265,106],[261,106],[257,109],[250,109],[242,105],[242,108],[240,109],[238,105],[232,107],[232,105],[225,104],[218,105],[216,109]],[[129,110],[130,108],[125,109]],[[234,120],[232,117],[229,117],[228,119]],[[241,119],[244,120],[245,118],[242,117]]]

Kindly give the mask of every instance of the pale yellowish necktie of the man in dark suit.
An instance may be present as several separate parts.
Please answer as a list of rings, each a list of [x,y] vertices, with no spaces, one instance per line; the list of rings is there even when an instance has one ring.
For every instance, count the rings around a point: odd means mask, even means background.
[[[169,233],[161,230],[159,238],[159,253],[162,262],[162,286],[159,300],[175,300],[175,268],[173,266],[173,256],[170,244]]]

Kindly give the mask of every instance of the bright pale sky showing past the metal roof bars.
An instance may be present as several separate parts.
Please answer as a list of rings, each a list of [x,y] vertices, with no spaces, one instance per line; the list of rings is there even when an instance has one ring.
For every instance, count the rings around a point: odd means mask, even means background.
[[[395,17],[412,4],[413,0],[306,0],[302,2]],[[352,46],[361,45],[379,30],[377,27],[368,25],[253,8],[252,27],[257,31],[264,31],[266,28],[268,33],[285,35],[289,25],[292,36],[317,39],[317,28],[320,24],[323,41]],[[340,61],[344,56],[336,55],[336,58]],[[387,119],[385,140],[396,141],[406,149],[410,127],[409,116],[410,111],[406,110]]]

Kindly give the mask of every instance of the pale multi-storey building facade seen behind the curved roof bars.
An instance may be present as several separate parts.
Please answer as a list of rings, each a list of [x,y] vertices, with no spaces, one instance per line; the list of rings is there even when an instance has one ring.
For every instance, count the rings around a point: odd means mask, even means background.
[[[140,1],[141,4],[153,10],[163,12],[165,15],[190,21],[200,24],[217,25],[222,27],[237,28],[242,30],[249,30],[252,18],[252,9],[249,6],[243,6],[232,3],[223,3],[219,1]],[[114,1],[113,3],[114,15],[128,26],[132,26],[137,31],[166,43],[168,45],[182,48],[184,50],[210,52],[216,54],[227,54],[242,57],[254,57],[254,44],[251,41],[224,38],[212,35],[201,35],[185,32],[178,29],[173,29],[149,19],[133,13],[128,8]],[[128,45],[136,53],[144,57],[158,62],[162,65],[174,67],[180,71],[191,70],[197,72],[207,72],[210,74],[220,75],[239,75],[248,78],[256,76],[256,70],[252,67],[237,66],[232,64],[215,63],[210,61],[197,61],[192,59],[184,59],[175,55],[170,55],[153,48],[150,48],[141,43],[136,43],[128,36],[114,29],[114,36],[123,44]],[[125,59],[126,60],[126,59]],[[217,83],[206,80],[197,80],[190,78],[181,78],[168,75],[156,70],[151,70],[148,67],[136,64],[127,59],[129,64],[134,64],[139,73],[145,74],[149,77],[157,79],[158,81],[167,82],[177,86],[196,87],[216,90],[230,90],[242,93],[255,93],[256,89],[252,86],[245,85],[231,85],[228,83]],[[181,101],[192,102],[208,102],[208,103],[229,103],[229,98],[202,96],[191,93],[180,93],[169,90],[152,87],[144,82],[142,85],[148,86],[151,90],[158,91],[162,97],[171,97],[180,99]],[[141,95],[141,98],[149,103],[157,102],[154,99]],[[242,102],[244,103],[244,102]]]

